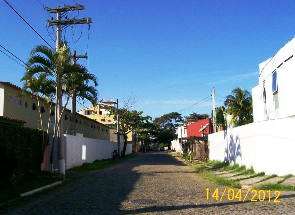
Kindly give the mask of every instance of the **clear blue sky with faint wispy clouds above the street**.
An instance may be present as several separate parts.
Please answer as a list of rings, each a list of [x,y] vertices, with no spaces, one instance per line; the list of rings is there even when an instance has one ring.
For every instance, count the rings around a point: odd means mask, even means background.
[[[46,30],[50,17],[40,3],[7,1],[55,45],[52,29],[50,35]],[[63,6],[57,0],[39,1]],[[85,6],[77,18],[88,16],[93,23],[88,49],[87,25],[73,29],[74,41],[82,32],[74,49],[77,54],[87,49],[88,61],[78,62],[98,77],[100,99],[118,98],[122,106],[122,98],[132,93],[138,97],[135,109],[153,118],[197,103],[211,95],[212,87],[217,105],[235,87],[251,91],[258,84],[258,64],[295,35],[293,1],[75,1]],[[7,18],[0,22],[0,44],[26,62],[31,49],[45,43],[4,1],[0,12]],[[70,28],[62,34],[72,42]],[[0,55],[0,81],[21,86],[24,68]],[[180,113],[211,110],[209,97]]]

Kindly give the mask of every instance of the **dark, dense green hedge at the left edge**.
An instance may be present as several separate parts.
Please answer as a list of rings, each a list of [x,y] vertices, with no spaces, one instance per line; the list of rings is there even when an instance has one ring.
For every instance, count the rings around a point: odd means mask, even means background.
[[[44,132],[44,141],[46,137]],[[28,172],[40,171],[41,161],[42,130],[0,123],[0,182],[9,178],[13,183]]]

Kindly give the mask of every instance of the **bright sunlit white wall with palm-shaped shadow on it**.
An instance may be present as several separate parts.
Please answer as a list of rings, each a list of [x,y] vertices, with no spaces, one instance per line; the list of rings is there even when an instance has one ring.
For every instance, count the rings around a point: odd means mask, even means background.
[[[253,166],[267,175],[295,175],[294,124],[290,117],[209,134],[209,159]]]

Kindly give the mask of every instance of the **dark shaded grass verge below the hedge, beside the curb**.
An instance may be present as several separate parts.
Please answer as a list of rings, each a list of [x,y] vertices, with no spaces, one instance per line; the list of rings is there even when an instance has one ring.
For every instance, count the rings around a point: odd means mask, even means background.
[[[8,183],[0,184],[0,204],[9,200],[20,197],[21,193],[34,190],[45,185],[52,184],[56,181],[60,181],[61,178],[24,178],[17,182],[15,185]]]

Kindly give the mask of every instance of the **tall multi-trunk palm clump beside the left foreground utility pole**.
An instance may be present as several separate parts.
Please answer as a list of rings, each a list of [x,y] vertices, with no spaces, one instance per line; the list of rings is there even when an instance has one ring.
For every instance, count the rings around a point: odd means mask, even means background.
[[[86,67],[75,64],[73,65],[71,62],[70,51],[67,48],[66,44],[60,45],[57,51],[52,51],[50,48],[44,45],[36,46],[32,51],[30,58],[27,63],[27,69],[25,72],[24,79],[29,80],[33,76],[51,76],[55,77],[55,95],[56,95],[56,105],[55,105],[55,113],[58,113],[58,107],[62,107],[62,104],[59,104],[60,98],[63,94],[67,95],[66,103],[58,116],[55,114],[55,125],[53,131],[53,144],[51,151],[53,152],[53,145],[56,139],[57,130],[58,136],[57,140],[58,144],[58,160],[64,160],[64,145],[63,139],[61,138],[63,135],[62,128],[60,126],[60,122],[62,119],[62,115],[64,110],[66,109],[66,105],[70,96],[73,92],[77,92],[77,96],[83,97],[91,102],[95,103],[97,101],[97,90],[90,85],[83,85],[82,81],[86,83],[88,80],[92,80],[95,83],[95,87],[97,86],[97,80],[93,74],[90,74]],[[60,82],[59,80],[62,80]],[[53,157],[50,157],[50,170],[53,171]],[[63,162],[59,162],[62,164]],[[64,170],[64,167],[59,167],[60,170]],[[64,172],[60,172],[65,174]]]

